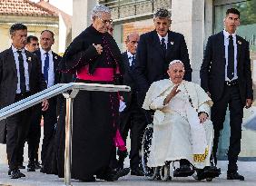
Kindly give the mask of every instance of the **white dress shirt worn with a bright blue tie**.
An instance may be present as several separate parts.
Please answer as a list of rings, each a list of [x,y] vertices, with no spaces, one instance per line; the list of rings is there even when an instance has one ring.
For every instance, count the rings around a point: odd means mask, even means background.
[[[44,60],[46,57],[46,52],[40,48],[41,62],[42,62],[42,73],[44,74]],[[49,70],[48,70],[48,83],[47,88],[54,85],[54,56],[52,50],[48,52],[49,55]]]

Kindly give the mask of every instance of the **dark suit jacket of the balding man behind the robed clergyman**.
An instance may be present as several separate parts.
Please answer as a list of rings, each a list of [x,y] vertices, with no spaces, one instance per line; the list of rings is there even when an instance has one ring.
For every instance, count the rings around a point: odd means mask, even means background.
[[[132,95],[137,91],[136,77],[134,70],[131,69],[127,52],[122,54],[123,64],[125,73],[123,73],[123,84],[131,87],[131,92],[125,93],[123,92],[123,102],[126,103],[127,108],[132,101]]]

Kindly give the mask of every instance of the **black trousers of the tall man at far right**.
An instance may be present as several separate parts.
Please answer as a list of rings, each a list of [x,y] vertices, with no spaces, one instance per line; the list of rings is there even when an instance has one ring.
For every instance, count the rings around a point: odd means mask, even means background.
[[[220,132],[223,129],[226,110],[229,106],[230,110],[230,147],[228,151],[228,172],[237,171],[238,155],[241,152],[241,122],[243,117],[243,103],[238,84],[225,85],[222,99],[214,102],[212,106],[212,124],[214,128],[214,140],[212,154],[216,158]]]

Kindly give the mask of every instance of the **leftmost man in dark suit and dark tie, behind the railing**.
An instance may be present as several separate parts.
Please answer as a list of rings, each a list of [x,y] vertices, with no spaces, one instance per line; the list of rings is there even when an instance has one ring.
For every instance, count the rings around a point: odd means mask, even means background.
[[[25,51],[27,27],[24,24],[13,24],[10,28],[11,48],[0,53],[0,108],[18,102],[44,88],[44,76],[38,58]],[[42,103],[46,110],[48,102]],[[19,171],[19,159],[30,125],[31,109],[16,113],[1,123],[1,139],[6,135],[6,152],[9,164],[8,174],[11,178],[25,177]],[[4,133],[4,132],[6,133]]]

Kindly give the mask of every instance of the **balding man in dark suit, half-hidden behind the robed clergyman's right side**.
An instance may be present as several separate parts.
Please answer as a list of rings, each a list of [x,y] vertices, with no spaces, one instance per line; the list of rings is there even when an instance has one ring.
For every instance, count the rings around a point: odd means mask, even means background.
[[[127,51],[123,53],[123,63],[125,73],[123,74],[123,84],[131,87],[130,93],[123,93],[123,102],[126,104],[123,112],[120,114],[120,130],[124,142],[126,141],[130,130],[131,151],[130,151],[130,167],[131,174],[143,176],[141,166],[140,151],[142,146],[143,131],[146,127],[145,115],[143,109],[137,102],[137,87],[135,80],[134,65],[136,63],[136,50],[139,42],[139,34],[132,33],[126,38],[125,44]],[[121,152],[119,152],[121,153]],[[119,154],[119,163],[123,168],[124,154]]]

